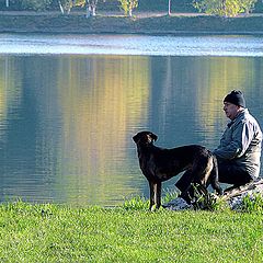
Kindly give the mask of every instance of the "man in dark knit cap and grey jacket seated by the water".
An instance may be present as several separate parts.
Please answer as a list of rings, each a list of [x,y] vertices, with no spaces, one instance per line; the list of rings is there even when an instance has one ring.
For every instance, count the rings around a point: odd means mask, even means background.
[[[231,122],[214,155],[218,160],[219,182],[237,187],[260,174],[262,132],[245,108],[241,91],[232,91],[225,98],[224,111]]]

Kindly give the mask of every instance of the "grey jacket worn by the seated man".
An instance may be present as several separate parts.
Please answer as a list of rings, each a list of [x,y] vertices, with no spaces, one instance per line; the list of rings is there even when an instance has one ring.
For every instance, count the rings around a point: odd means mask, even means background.
[[[230,161],[249,172],[252,178],[260,174],[262,132],[248,108],[231,121],[214,151],[219,161]]]

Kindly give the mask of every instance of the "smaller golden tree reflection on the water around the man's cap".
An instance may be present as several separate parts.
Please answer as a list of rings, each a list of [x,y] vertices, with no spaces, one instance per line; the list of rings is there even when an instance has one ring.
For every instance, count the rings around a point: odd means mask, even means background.
[[[202,124],[203,134],[215,134],[218,129],[218,121],[224,128],[226,119],[222,112],[222,100],[231,90],[242,90],[245,94],[251,89],[253,81],[253,60],[247,58],[218,57],[204,59],[202,67],[196,68],[198,81],[198,123]],[[204,92],[206,89],[206,92]],[[213,111],[211,108],[220,111]],[[221,130],[220,130],[221,132]],[[207,138],[208,139],[208,138]]]

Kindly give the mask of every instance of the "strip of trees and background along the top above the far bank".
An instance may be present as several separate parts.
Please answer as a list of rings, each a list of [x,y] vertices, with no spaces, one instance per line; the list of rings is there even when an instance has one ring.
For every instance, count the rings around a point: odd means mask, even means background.
[[[133,11],[163,11],[171,15],[179,12],[204,12],[219,16],[237,16],[263,10],[263,0],[2,0],[2,10],[60,10],[69,14],[73,8],[85,9],[87,16],[96,15],[98,8],[103,11],[122,10],[125,15],[133,16]]]

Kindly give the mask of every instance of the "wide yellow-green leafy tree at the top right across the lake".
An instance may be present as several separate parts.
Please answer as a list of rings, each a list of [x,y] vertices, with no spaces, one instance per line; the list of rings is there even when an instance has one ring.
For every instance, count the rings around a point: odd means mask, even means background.
[[[197,0],[194,7],[199,12],[220,16],[237,16],[239,13],[249,13],[258,0]]]

